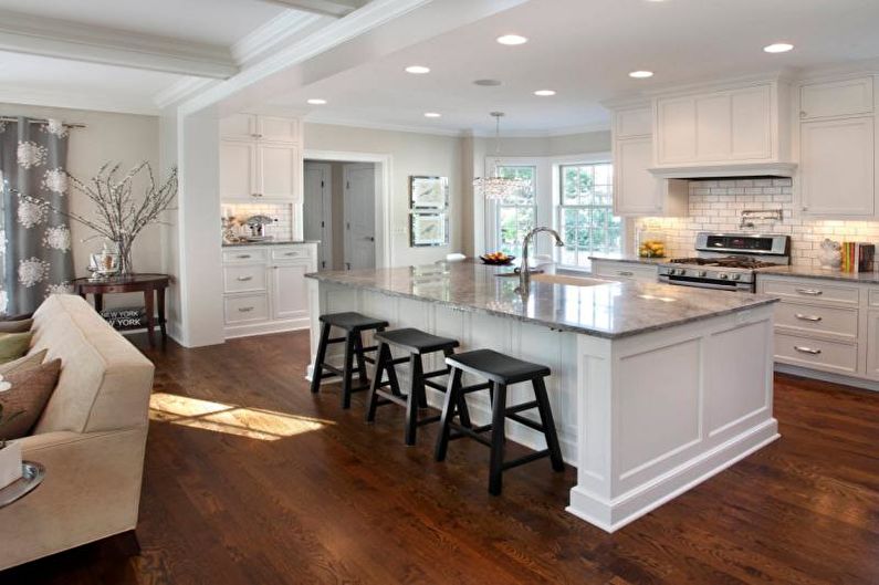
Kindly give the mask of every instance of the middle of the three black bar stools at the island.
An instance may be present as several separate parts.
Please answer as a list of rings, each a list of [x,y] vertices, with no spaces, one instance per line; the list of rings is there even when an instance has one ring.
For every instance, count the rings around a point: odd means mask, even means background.
[[[389,404],[402,406],[406,408],[406,445],[415,445],[418,427],[430,422],[437,422],[440,419],[439,416],[418,418],[418,409],[427,407],[425,387],[430,386],[431,388],[446,391],[446,385],[433,382],[431,378],[446,376],[449,374],[450,369],[447,366],[436,372],[425,372],[421,356],[435,352],[442,352],[446,357],[449,357],[454,354],[454,348],[459,345],[458,339],[439,337],[420,330],[404,328],[378,333],[376,334],[376,342],[378,343],[378,354],[376,355],[376,368],[369,388],[369,408],[366,412],[366,421],[373,422],[375,420],[376,409],[379,406]],[[391,347],[404,351],[409,355],[395,359],[390,352]],[[395,366],[407,362],[409,363],[409,376],[411,380],[409,394],[404,395],[400,393]],[[385,373],[388,375],[388,382],[381,382]],[[386,386],[390,386],[390,391],[383,389]],[[463,401],[463,399],[459,403],[458,411],[460,412],[461,425],[469,427],[470,416],[467,410],[467,403]]]

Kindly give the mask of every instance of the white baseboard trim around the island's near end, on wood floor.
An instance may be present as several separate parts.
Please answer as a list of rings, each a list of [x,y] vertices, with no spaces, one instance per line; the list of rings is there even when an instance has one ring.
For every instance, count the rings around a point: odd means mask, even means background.
[[[565,510],[605,532],[615,532],[779,437],[778,422],[774,418],[765,420],[616,499],[608,500],[574,487],[571,490],[571,505]]]

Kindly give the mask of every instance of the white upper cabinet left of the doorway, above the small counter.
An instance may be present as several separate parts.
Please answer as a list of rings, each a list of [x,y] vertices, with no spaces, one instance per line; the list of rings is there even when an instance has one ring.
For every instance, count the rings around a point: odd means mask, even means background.
[[[237,114],[220,121],[223,200],[302,201],[302,135],[297,118]]]

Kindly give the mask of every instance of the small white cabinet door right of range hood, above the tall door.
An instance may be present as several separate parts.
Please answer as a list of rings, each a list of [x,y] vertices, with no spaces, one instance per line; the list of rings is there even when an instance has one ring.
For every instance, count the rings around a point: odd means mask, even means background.
[[[807,83],[799,88],[799,118],[817,119],[873,112],[873,80],[870,76]]]

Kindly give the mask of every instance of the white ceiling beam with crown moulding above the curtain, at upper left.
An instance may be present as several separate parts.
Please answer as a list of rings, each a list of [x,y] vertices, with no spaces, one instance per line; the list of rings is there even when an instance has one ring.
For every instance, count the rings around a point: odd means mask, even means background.
[[[238,73],[228,48],[6,10],[0,10],[0,51],[196,77]]]

